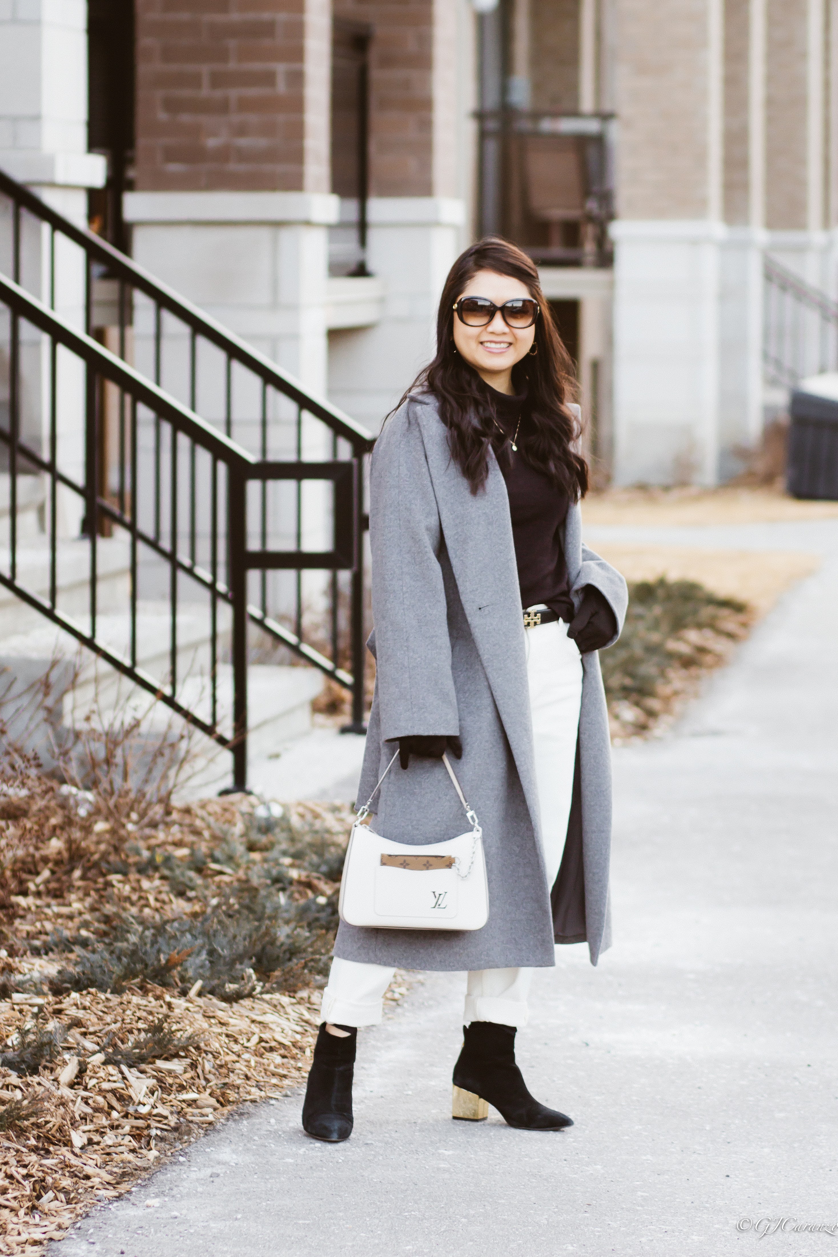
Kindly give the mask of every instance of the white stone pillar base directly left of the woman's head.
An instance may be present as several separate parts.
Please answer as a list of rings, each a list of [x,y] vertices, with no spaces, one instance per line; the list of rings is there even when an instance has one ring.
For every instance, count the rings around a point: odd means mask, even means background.
[[[329,396],[377,432],[436,352],[436,310],[460,250],[465,204],[454,197],[372,197],[369,270],[384,285],[384,310],[373,327],[329,336]]]

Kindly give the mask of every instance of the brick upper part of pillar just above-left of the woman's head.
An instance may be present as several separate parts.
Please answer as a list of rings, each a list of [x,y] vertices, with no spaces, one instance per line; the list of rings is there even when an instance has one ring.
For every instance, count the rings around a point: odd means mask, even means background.
[[[334,0],[334,16],[369,23],[373,196],[452,195],[454,0]],[[445,33],[445,35],[443,35]],[[435,93],[436,88],[436,93]],[[435,98],[436,97],[436,98]],[[435,152],[436,148],[436,152]]]

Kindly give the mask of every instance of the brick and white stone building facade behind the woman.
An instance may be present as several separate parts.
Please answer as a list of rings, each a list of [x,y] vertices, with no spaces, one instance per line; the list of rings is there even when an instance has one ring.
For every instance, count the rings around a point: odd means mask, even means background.
[[[781,403],[766,254],[837,295],[837,49],[838,0],[5,0],[0,168],[371,429],[506,230],[601,474],[715,484]]]

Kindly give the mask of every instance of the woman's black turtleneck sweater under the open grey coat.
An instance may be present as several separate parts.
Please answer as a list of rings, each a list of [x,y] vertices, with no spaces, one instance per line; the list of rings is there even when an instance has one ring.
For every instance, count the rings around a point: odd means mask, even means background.
[[[530,435],[526,392],[508,396],[489,385],[485,388],[494,402],[498,424],[492,447],[506,481],[521,607],[544,602],[569,623],[574,608],[560,534],[569,505],[567,494],[526,461]],[[516,451],[511,447],[513,440]]]

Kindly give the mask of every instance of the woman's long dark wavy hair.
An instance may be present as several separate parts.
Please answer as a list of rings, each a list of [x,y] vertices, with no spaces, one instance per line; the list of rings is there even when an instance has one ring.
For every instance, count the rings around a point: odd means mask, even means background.
[[[431,392],[437,398],[440,419],[449,430],[451,456],[477,493],[489,475],[494,406],[491,390],[454,347],[454,303],[479,270],[510,275],[526,285],[541,313],[535,323],[538,353],[526,356],[513,370],[516,392],[526,388],[529,417],[521,456],[543,471],[572,502],[588,489],[588,464],[577,451],[580,425],[565,401],[574,396],[573,363],[544,299],[533,261],[509,240],[484,236],[460,254],[449,272],[436,318],[436,357],[407,390]],[[396,407],[398,409],[398,407]],[[392,414],[392,412],[391,412]]]

